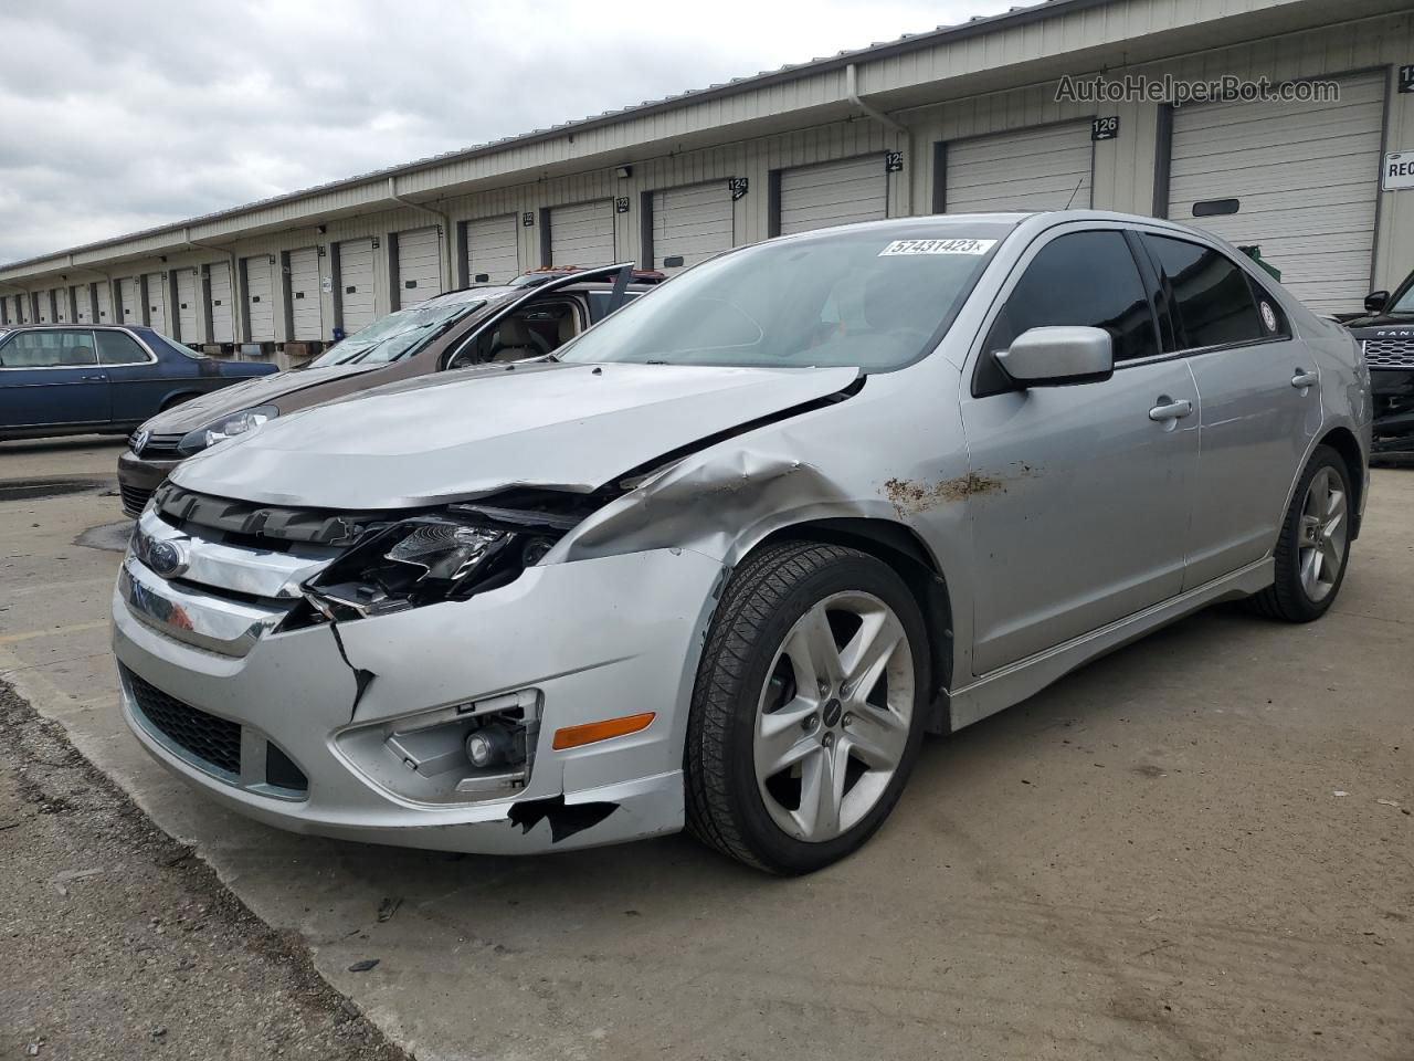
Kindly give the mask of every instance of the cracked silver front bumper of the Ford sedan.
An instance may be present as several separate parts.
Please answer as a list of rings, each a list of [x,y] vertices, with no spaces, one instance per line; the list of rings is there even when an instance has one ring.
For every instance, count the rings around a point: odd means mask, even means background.
[[[281,630],[277,604],[167,581],[129,555],[113,597],[123,713],[168,770],[281,829],[488,854],[669,833],[683,825],[683,734],[723,577],[707,556],[655,549]],[[410,751],[508,705],[534,720],[510,789],[458,781],[465,763],[445,740]],[[559,730],[639,713],[653,720],[636,733],[554,747]]]

